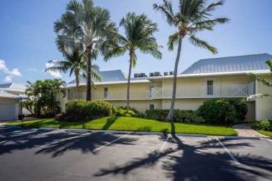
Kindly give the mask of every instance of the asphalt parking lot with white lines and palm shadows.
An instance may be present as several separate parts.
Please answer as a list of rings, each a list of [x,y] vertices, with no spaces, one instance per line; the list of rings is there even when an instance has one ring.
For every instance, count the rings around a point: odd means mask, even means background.
[[[0,180],[272,180],[271,139],[0,128]]]

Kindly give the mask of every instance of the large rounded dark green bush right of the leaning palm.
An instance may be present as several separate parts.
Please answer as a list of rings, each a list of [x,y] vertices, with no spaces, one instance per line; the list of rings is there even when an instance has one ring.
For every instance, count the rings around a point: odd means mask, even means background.
[[[248,106],[238,99],[213,99],[204,102],[197,115],[204,118],[205,123],[212,125],[233,125],[245,120]]]

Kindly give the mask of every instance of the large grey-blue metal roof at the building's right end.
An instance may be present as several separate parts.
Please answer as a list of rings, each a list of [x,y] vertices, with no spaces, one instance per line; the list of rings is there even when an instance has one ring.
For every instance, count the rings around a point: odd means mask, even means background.
[[[269,65],[265,63],[267,60],[272,60],[270,54],[203,58],[193,63],[181,74],[213,74],[219,72],[231,73],[252,70],[270,70]]]

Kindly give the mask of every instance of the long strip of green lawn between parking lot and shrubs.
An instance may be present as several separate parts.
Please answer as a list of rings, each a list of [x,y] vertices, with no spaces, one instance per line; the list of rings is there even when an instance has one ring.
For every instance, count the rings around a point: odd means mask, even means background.
[[[110,117],[91,120],[85,123],[67,123],[51,119],[24,121],[24,123],[8,123],[23,127],[58,127],[81,129],[109,129],[138,132],[167,132],[208,135],[234,135],[237,133],[228,126],[203,125],[193,123],[163,123],[156,120],[130,117]]]

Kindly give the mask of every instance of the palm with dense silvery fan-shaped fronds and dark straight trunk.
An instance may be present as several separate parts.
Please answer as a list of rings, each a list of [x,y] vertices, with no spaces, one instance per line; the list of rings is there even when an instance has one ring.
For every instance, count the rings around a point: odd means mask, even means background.
[[[66,13],[54,22],[54,31],[59,34],[57,44],[69,47],[70,42],[80,42],[86,53],[86,100],[91,100],[91,60],[98,51],[105,54],[114,41],[109,41],[118,30],[110,21],[109,11],[94,6],[92,0],[73,0],[66,7]],[[63,47],[58,47],[62,49]]]

